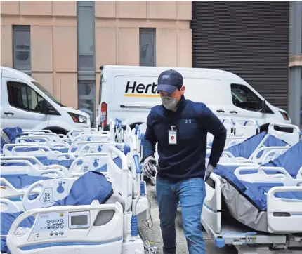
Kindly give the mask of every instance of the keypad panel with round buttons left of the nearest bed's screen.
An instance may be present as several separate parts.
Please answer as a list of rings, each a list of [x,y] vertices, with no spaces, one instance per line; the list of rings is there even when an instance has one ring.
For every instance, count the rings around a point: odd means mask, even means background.
[[[67,237],[68,213],[42,213],[38,215],[28,241]]]

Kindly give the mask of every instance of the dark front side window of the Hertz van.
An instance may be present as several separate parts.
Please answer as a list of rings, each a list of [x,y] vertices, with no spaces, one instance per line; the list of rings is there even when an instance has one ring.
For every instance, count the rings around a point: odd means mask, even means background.
[[[247,86],[232,83],[232,103],[236,107],[258,112],[261,110],[262,100],[252,92]]]

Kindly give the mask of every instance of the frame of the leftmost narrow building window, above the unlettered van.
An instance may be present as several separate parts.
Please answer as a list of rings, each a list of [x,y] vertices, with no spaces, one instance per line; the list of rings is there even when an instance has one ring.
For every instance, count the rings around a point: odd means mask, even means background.
[[[30,25],[13,25],[13,68],[20,70],[20,72],[24,72],[31,76],[32,74],[32,41],[30,40]],[[17,54],[16,54],[16,32],[18,31],[27,31],[29,32],[29,69],[19,69],[17,67]]]

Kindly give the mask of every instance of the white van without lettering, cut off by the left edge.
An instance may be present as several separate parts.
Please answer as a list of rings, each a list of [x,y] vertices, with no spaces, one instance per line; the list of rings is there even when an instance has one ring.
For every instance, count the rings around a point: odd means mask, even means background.
[[[24,72],[0,67],[1,129],[19,126],[24,131],[48,129],[65,134],[73,128],[90,128],[90,116],[65,107]]]

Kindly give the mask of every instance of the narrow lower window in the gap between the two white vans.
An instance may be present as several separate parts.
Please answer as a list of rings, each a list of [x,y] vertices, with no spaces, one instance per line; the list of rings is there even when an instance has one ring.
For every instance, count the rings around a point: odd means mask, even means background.
[[[79,81],[79,110],[90,115],[91,121],[94,122],[96,86],[94,81]]]

